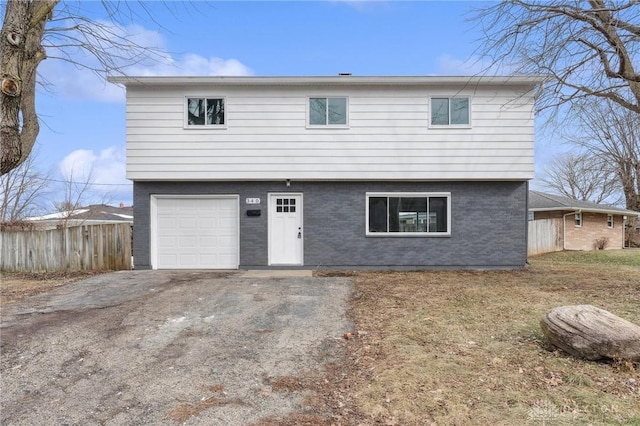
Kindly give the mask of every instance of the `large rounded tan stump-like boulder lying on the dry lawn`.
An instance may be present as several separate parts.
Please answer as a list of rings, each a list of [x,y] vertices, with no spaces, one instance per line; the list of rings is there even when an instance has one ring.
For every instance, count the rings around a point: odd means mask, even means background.
[[[640,327],[604,309],[592,305],[553,308],[540,327],[553,346],[573,356],[640,361]]]

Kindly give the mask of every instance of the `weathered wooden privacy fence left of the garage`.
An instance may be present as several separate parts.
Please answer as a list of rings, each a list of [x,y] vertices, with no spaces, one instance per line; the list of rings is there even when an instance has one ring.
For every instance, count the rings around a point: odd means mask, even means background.
[[[0,270],[12,272],[131,269],[131,224],[0,232]]]

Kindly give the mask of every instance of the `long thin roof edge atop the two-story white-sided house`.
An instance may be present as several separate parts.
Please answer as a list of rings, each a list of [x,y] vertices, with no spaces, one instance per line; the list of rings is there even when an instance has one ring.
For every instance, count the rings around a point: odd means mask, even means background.
[[[414,85],[524,85],[535,86],[543,83],[545,77],[539,75],[512,75],[512,76],[109,76],[110,83],[124,84],[125,86],[145,85],[192,85],[215,84],[225,86],[308,86],[308,85],[335,85],[335,86],[414,86]]]

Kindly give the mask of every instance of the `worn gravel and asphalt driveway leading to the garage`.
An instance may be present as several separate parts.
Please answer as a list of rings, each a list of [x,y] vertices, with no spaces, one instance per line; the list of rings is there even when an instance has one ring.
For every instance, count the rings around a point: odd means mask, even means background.
[[[122,271],[2,307],[3,425],[246,425],[344,356],[349,278]]]

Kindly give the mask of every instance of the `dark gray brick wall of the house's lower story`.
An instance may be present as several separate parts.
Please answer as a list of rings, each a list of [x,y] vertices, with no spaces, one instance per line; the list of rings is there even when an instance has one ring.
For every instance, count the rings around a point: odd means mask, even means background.
[[[135,182],[134,263],[148,269],[152,194],[238,194],[240,268],[266,267],[267,194],[301,192],[305,268],[521,268],[526,182]],[[366,237],[366,192],[451,192],[451,237]],[[247,206],[245,198],[260,198]],[[260,208],[260,217],[246,210]]]

